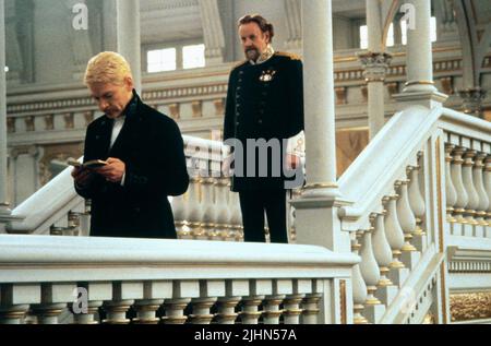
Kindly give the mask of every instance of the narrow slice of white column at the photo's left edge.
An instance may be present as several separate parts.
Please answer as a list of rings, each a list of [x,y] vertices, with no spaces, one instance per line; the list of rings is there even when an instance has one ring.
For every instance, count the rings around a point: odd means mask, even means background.
[[[7,193],[7,81],[4,0],[0,0],[0,214],[10,214]]]

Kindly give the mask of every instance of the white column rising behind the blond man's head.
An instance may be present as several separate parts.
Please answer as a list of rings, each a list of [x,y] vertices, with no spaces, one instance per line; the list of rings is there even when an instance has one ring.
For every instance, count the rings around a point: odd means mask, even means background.
[[[130,63],[134,86],[142,92],[140,0],[117,0],[118,52]]]

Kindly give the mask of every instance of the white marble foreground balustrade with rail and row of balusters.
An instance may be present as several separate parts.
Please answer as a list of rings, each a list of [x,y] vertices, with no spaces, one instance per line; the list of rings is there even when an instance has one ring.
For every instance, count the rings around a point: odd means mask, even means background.
[[[337,295],[330,287],[350,283],[359,261],[313,246],[5,235],[0,242],[0,323],[9,324],[328,323]]]

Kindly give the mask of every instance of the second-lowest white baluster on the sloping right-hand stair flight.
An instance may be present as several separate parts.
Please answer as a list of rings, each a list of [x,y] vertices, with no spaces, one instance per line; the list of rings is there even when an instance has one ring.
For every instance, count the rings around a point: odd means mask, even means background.
[[[373,219],[372,219],[373,222]],[[376,263],[375,256],[373,254],[372,246],[372,232],[375,228],[370,227],[369,229],[362,231],[362,241],[360,248],[360,271],[363,276],[364,284],[367,285],[367,300],[366,306],[380,305],[380,300],[375,298],[374,294],[376,291],[376,285],[380,282],[380,270]]]

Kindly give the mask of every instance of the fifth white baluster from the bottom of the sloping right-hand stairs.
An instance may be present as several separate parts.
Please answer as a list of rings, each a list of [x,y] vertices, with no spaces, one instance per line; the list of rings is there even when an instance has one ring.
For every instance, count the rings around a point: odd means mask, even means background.
[[[405,252],[416,251],[416,248],[411,244],[412,234],[416,230],[416,218],[409,205],[409,196],[407,190],[408,183],[409,180],[400,180],[396,182],[396,189],[398,187],[399,190],[399,199],[396,203],[397,219],[404,232],[405,243],[402,248],[402,251]]]

